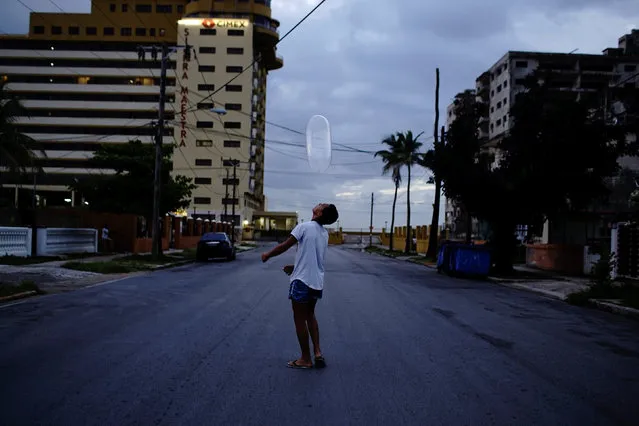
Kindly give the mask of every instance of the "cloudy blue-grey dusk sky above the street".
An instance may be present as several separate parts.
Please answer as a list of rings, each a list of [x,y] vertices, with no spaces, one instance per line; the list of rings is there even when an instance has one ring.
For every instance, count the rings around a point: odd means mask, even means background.
[[[49,0],[23,1],[36,11],[59,12]],[[273,0],[280,34],[318,1]],[[89,0],[56,4],[66,12],[90,8]],[[17,0],[3,6],[0,31],[26,33],[29,10]],[[326,173],[312,173],[304,136],[267,126],[268,208],[299,211],[308,220],[315,204],[332,202],[344,228],[367,228],[374,192],[374,224],[382,227],[390,222],[390,177],[381,176],[381,162],[372,154],[347,152],[342,145],[373,152],[387,134],[412,130],[425,132],[428,148],[436,67],[444,124],[454,95],[473,88],[475,78],[508,50],[601,53],[637,26],[637,0],[328,0],[278,46],[284,68],[269,75],[266,118],[303,132],[311,116],[324,115],[339,150]],[[417,168],[413,176],[411,222],[427,224],[434,190],[425,170]],[[397,213],[396,224],[405,224],[405,187]]]

